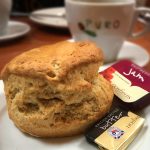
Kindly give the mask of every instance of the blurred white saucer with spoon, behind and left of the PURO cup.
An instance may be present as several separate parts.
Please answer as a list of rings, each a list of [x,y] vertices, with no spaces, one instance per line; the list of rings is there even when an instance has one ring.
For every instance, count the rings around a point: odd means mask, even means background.
[[[45,25],[45,26],[50,26],[50,27],[57,27],[57,28],[67,28],[67,21],[65,18],[58,18],[58,17],[37,17],[37,16],[32,16],[32,14],[63,14],[65,13],[65,8],[64,7],[55,7],[55,8],[47,8],[47,9],[41,9],[41,10],[36,10],[31,13],[30,19],[38,23],[40,25]]]

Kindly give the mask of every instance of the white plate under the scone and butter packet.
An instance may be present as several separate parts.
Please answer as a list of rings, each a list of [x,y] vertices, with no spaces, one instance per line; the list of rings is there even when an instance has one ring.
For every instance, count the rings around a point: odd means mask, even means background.
[[[146,118],[144,128],[136,137],[128,150],[149,150],[150,147],[150,106],[141,116]],[[22,133],[9,119],[6,110],[6,100],[3,92],[3,83],[0,80],[0,150],[97,150],[90,145],[84,136],[43,139],[35,138]]]

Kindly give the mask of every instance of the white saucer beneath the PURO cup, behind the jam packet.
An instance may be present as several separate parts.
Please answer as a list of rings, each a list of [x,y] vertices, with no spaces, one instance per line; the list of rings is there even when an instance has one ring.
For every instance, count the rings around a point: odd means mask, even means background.
[[[68,41],[74,42],[74,39],[69,39]],[[118,54],[116,61],[121,59],[129,59],[135,64],[144,67],[150,60],[150,54],[143,47],[135,43],[125,41]],[[115,62],[104,64],[102,67],[100,67],[100,70],[106,69]]]

